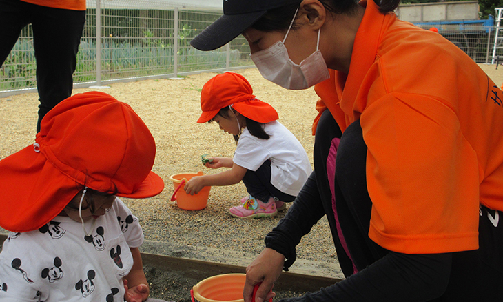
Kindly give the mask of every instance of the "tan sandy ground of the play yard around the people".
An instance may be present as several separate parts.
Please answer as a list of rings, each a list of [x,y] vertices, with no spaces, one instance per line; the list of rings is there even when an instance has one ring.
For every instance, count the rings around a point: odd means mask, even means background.
[[[480,65],[489,77],[503,83],[503,67]],[[270,83],[255,69],[238,70],[251,83],[258,99],[276,108],[283,123],[305,147],[312,165],[314,137],[311,123],[316,117],[314,105],[318,97],[312,88],[289,91]],[[156,139],[157,154],[154,172],[165,180],[165,190],[150,199],[126,199],[125,203],[141,221],[145,232],[143,252],[165,254],[203,261],[246,266],[263,249],[265,234],[284,217],[280,212],[269,219],[236,219],[228,208],[238,205],[247,195],[242,183],[213,187],[207,208],[181,210],[170,201],[173,174],[203,171],[219,172],[201,165],[201,154],[232,157],[235,143],[216,124],[198,124],[201,113],[200,90],[214,73],[196,74],[181,80],[158,79],[130,83],[114,83],[101,91],[129,103],[145,121]],[[75,89],[74,93],[92,89]],[[37,121],[37,94],[17,94],[0,98],[0,158],[21,150],[34,142]],[[342,276],[329,227],[323,218],[298,246],[298,261],[293,272],[339,278]],[[198,280],[156,270],[145,265],[152,283],[152,296],[175,301],[189,301],[189,290]],[[314,288],[313,290],[317,290]],[[280,292],[278,296],[294,296],[299,292]]]

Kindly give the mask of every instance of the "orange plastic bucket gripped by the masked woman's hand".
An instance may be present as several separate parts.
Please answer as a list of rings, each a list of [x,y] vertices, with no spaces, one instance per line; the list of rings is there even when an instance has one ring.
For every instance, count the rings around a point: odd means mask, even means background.
[[[192,301],[243,302],[246,274],[219,274],[200,281],[190,291]]]

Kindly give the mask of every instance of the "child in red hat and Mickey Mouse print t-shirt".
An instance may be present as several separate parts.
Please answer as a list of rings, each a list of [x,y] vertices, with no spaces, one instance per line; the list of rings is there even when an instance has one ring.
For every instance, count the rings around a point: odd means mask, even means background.
[[[35,143],[0,161],[0,226],[10,231],[0,300],[147,300],[143,232],[116,196],[163,190],[155,152],[145,123],[108,94],[76,94],[50,110]]]

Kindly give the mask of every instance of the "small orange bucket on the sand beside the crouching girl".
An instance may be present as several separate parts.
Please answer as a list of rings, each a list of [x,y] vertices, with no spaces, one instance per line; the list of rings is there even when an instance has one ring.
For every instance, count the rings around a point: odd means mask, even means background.
[[[203,210],[206,208],[209,197],[209,189],[212,187],[204,187],[201,191],[194,195],[187,194],[183,190],[184,183],[187,183],[187,181],[192,179],[192,177],[201,175],[203,175],[203,172],[199,171],[197,173],[181,173],[170,176],[170,180],[173,181],[175,188],[172,201],[176,199],[176,205],[178,205],[178,208],[183,210]]]

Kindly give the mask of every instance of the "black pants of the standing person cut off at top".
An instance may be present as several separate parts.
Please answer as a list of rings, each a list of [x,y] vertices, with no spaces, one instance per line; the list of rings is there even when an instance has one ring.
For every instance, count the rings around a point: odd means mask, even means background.
[[[0,0],[1,64],[14,47],[21,29],[29,23],[32,24],[37,60],[39,132],[43,116],[72,94],[73,73],[85,23],[85,10],[63,10],[20,0]]]

